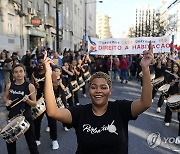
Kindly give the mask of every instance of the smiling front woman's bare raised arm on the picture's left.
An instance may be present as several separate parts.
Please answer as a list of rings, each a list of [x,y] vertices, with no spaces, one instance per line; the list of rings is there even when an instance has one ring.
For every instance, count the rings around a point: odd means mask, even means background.
[[[46,102],[47,114],[54,119],[70,124],[72,122],[70,111],[64,108],[57,108],[52,84],[52,70],[50,66],[50,64],[53,64],[53,61],[47,57],[47,52],[45,52],[44,64],[46,69],[44,97]]]

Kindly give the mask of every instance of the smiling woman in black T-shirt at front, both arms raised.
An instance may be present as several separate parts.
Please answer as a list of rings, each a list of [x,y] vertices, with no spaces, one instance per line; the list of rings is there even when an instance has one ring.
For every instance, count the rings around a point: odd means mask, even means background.
[[[53,61],[45,56],[45,102],[49,116],[74,128],[77,135],[77,154],[127,154],[128,122],[151,106],[152,86],[149,65],[153,60],[152,45],[141,60],[143,87],[141,98],[134,101],[108,101],[112,91],[110,77],[96,72],[89,82],[90,104],[57,108],[51,80]],[[144,86],[145,85],[145,86]]]

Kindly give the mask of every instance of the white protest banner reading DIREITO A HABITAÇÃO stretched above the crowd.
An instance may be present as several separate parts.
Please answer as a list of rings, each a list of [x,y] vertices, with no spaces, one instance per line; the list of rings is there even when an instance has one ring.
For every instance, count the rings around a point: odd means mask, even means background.
[[[88,37],[88,52],[96,55],[142,54],[144,50],[148,50],[149,41],[152,42],[154,53],[170,52],[169,36],[104,40]]]

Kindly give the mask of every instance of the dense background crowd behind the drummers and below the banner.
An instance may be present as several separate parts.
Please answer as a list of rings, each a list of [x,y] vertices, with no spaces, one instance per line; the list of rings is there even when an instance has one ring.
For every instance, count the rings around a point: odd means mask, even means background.
[[[22,63],[26,67],[27,78],[31,78],[32,72],[37,67],[37,55],[40,50],[35,52],[27,50],[23,56],[19,55],[19,52],[13,52],[10,54],[9,51],[3,50],[0,53],[0,93],[3,92],[4,86],[12,79],[11,69],[12,66],[17,63]],[[49,57],[51,57],[57,67],[62,67],[65,62],[70,65],[73,60],[83,59],[87,52],[81,50],[73,52],[71,50],[64,50],[63,52],[56,52],[48,50]],[[137,78],[140,80],[139,73],[141,67],[139,65],[142,58],[141,55],[118,55],[118,56],[104,56],[104,55],[88,55],[91,59],[89,65],[90,73],[96,71],[102,71],[111,75],[112,79],[119,80],[121,83],[128,83],[131,78]],[[155,57],[166,56],[177,61],[179,63],[179,57],[177,52],[171,52],[168,54],[159,53],[155,54]]]

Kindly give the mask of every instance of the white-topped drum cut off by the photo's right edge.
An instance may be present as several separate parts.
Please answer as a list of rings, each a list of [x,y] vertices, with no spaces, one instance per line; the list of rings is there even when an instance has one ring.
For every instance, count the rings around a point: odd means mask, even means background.
[[[172,95],[167,99],[167,105],[172,112],[180,112],[180,95]]]

